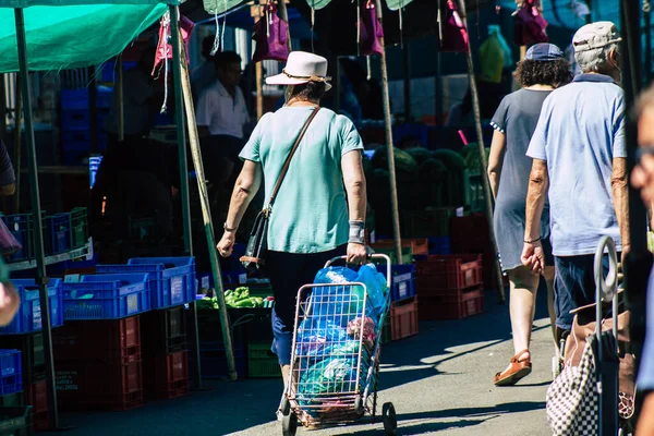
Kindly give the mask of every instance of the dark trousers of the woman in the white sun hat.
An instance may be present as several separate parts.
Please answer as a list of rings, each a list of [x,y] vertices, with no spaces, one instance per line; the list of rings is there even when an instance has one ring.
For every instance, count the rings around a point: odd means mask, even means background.
[[[346,252],[347,245],[312,254],[268,252],[266,269],[275,292],[275,307],[272,308],[275,340],[271,351],[277,354],[280,365],[291,363],[298,291],[302,286],[314,282],[316,274],[327,261],[342,256]]]

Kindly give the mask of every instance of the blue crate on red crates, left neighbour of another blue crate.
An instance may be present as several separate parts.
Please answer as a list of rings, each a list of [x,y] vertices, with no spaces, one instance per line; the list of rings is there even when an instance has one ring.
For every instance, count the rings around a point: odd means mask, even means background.
[[[64,318],[119,319],[150,308],[147,274],[82,276],[63,283]]]

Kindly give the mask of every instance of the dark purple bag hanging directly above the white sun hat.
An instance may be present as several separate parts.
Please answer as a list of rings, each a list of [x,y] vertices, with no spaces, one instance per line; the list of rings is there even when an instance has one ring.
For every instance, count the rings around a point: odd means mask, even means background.
[[[264,7],[264,16],[254,24],[252,39],[256,43],[256,50],[252,61],[284,62],[289,57],[288,28],[288,23],[277,15],[275,2],[268,0]]]

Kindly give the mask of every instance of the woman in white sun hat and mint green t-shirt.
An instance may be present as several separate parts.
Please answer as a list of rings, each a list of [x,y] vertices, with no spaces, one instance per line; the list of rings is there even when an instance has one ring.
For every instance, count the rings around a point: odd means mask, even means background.
[[[348,118],[320,109],[320,99],[331,88],[329,80],[327,60],[302,51],[291,52],[283,72],[266,80],[268,85],[286,86],[286,105],[261,119],[241,152],[244,166],[218,243],[220,255],[231,255],[237,229],[262,177],[269,198],[300,131],[319,111],[292,157],[268,226],[266,269],[275,292],[272,351],[284,385],[298,289],[313,282],[335,256],[347,254],[356,265],[366,258],[363,143]]]

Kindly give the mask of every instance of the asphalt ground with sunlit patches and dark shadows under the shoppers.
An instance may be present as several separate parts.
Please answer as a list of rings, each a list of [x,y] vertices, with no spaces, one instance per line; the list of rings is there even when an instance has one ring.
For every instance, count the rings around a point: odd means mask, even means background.
[[[545,306],[531,346],[533,372],[517,386],[497,388],[493,376],[513,354],[508,304],[486,292],[485,313],[421,323],[417,336],[383,348],[379,403],[391,401],[401,435],[550,435],[545,393],[554,344]],[[144,373],[147,377],[147,373]],[[126,412],[62,414],[65,435],[281,435],[275,410],[281,379],[206,380],[205,390],[146,403]],[[384,435],[380,422],[298,432],[299,435]]]

